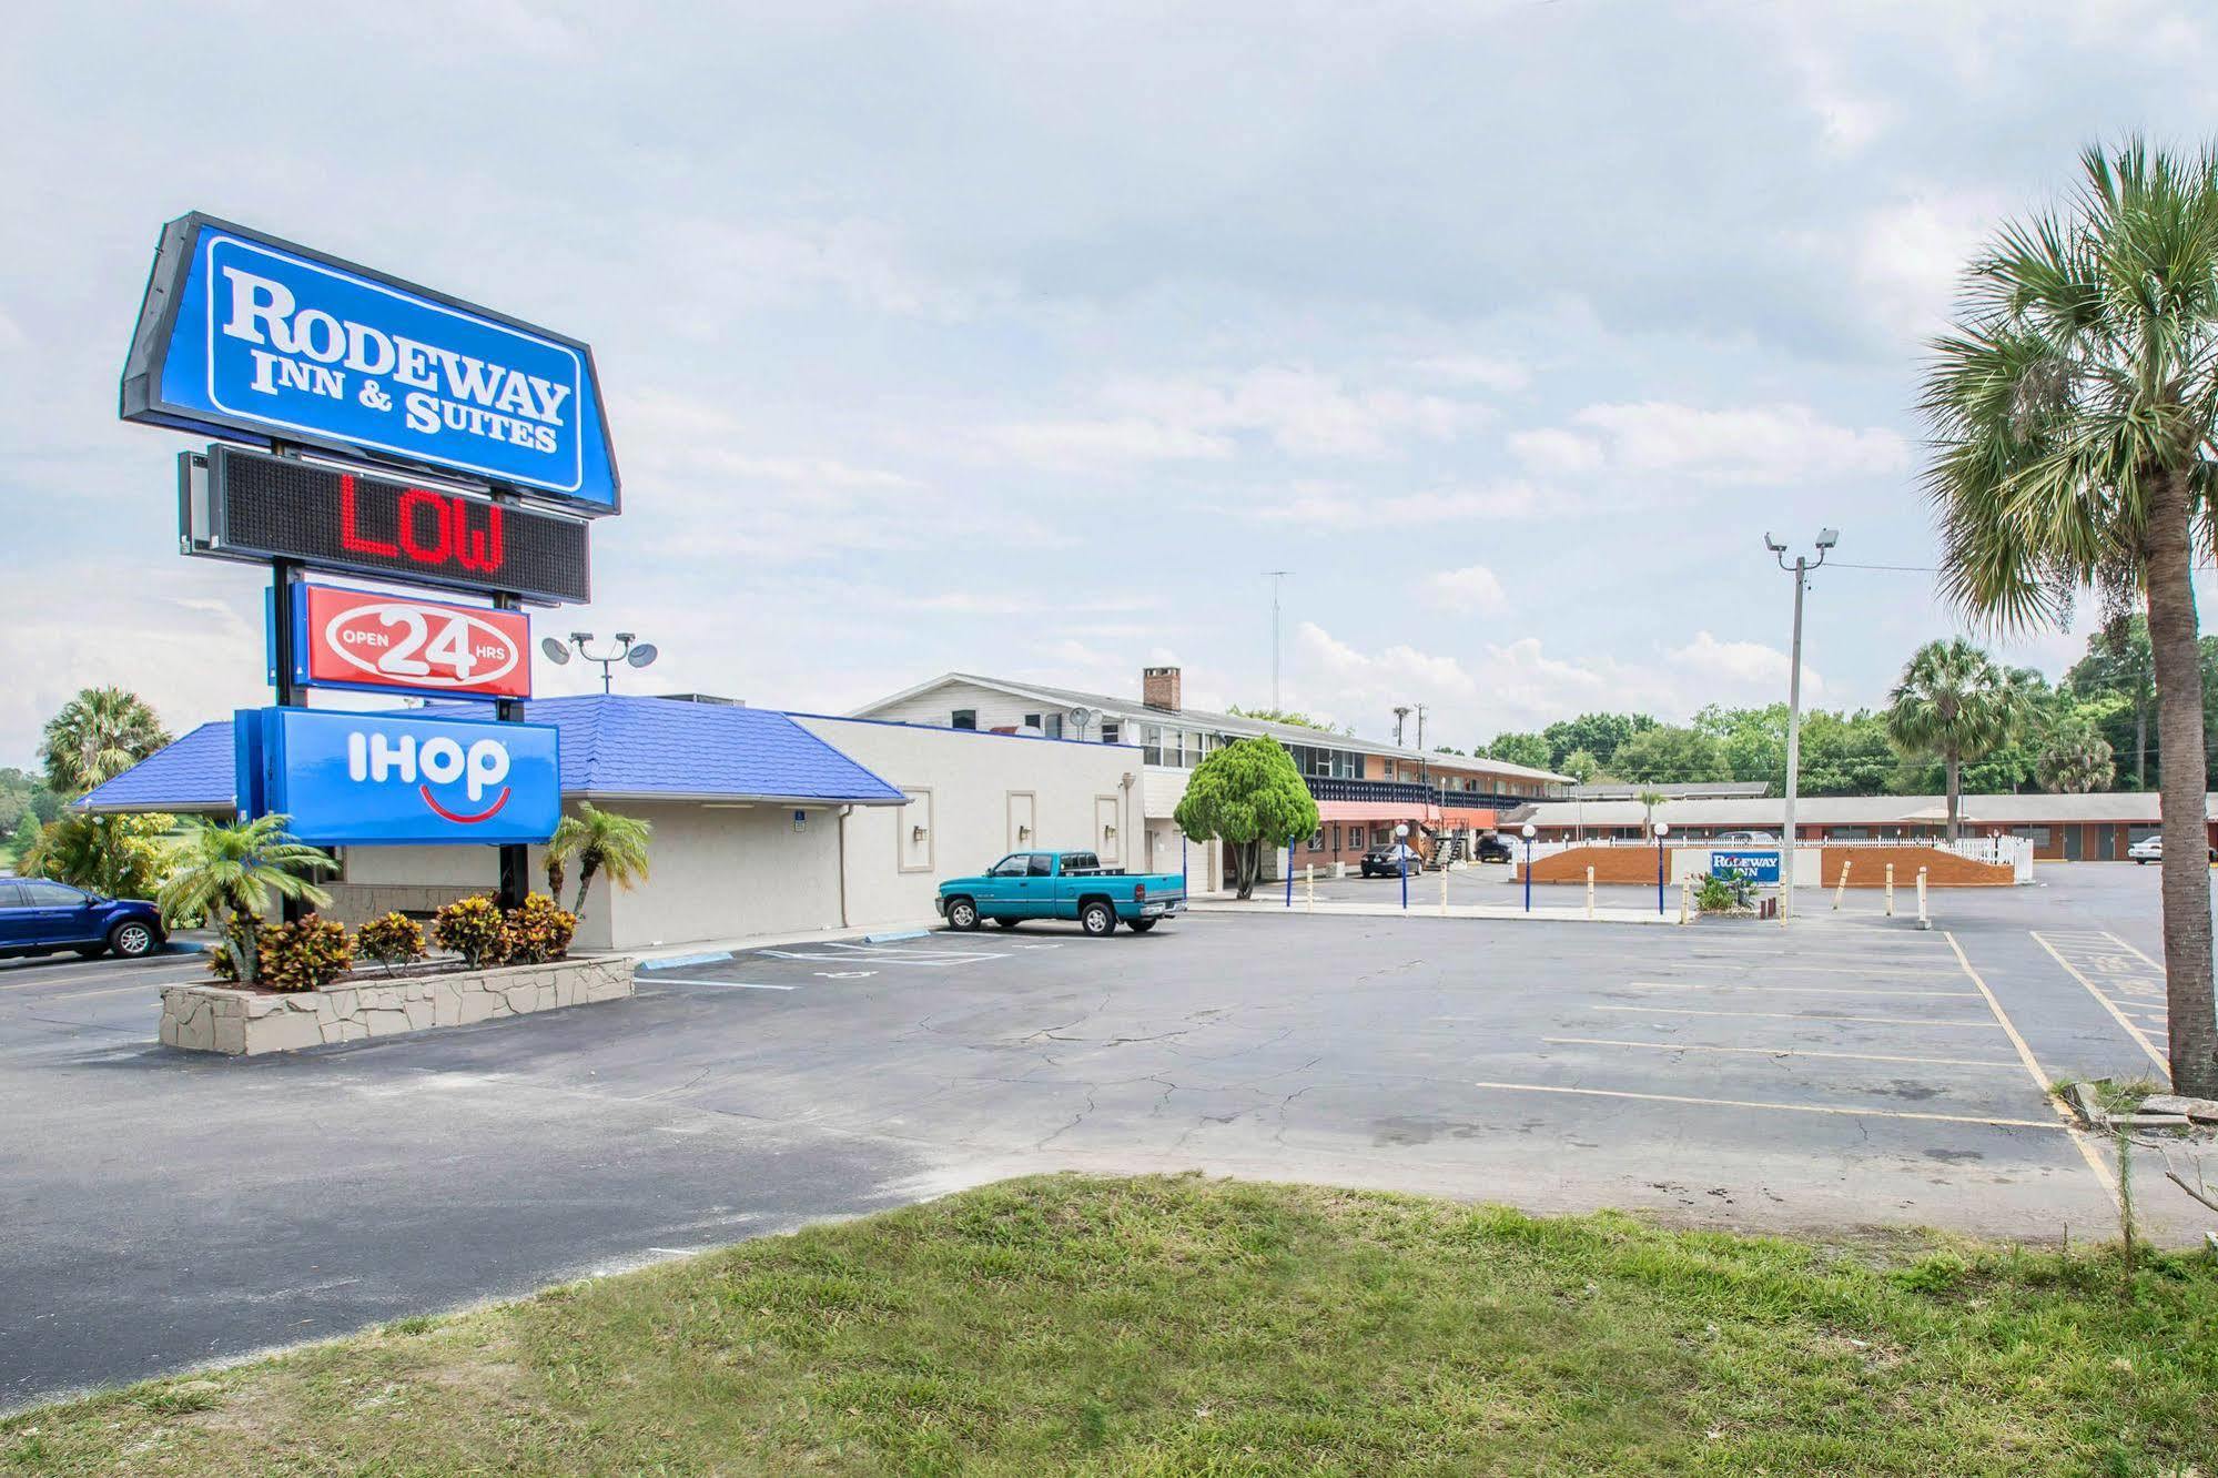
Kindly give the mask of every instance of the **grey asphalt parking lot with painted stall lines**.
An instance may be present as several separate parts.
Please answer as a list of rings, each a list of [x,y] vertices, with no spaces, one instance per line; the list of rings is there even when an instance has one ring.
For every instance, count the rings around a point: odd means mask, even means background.
[[[0,968],[0,1403],[1047,1167],[2114,1236],[2112,1167],[2041,1087],[2156,1072],[2156,874],[1934,899],[1932,932],[1852,894],[1794,930],[807,943],[255,1061],[151,1041],[197,961]],[[2143,1207],[2185,1236],[2165,1190]]]

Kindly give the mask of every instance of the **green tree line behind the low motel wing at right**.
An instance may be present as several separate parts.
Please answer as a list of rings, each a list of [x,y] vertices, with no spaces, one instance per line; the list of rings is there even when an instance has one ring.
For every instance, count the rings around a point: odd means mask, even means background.
[[[1972,644],[1976,664],[1952,681],[1983,684],[2001,710],[1998,732],[1958,755],[1958,788],[1974,794],[2047,790],[2147,790],[2156,783],[2163,746],[2151,723],[2156,679],[2149,624],[2123,615],[2098,626],[2087,650],[2058,681],[2034,668],[2012,668]],[[2218,708],[2218,637],[2202,637],[2202,701]],[[1912,677],[1916,657],[1905,664]],[[1930,668],[1932,664],[1927,664]],[[1956,666],[1963,666],[1958,655]],[[1927,670],[1927,679],[1932,672]],[[1801,794],[1936,794],[1950,790],[1947,746],[1916,737],[1912,703],[1923,684],[1903,684],[1885,708],[1812,708],[1801,723]],[[1907,728],[1905,728],[1907,723]],[[2207,715],[2205,746],[2218,737]],[[1785,792],[1788,706],[1728,708],[1710,703],[1690,723],[1664,723],[1646,712],[1586,712],[1535,732],[1504,732],[1477,755],[1555,770],[1573,779],[1624,783],[1754,781]],[[2205,757],[2218,759],[2218,757]]]

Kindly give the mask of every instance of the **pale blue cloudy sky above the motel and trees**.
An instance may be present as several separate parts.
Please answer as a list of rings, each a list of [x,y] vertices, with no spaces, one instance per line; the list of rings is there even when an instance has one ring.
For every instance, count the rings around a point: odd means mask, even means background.
[[[82,684],[268,701],[262,581],[175,553],[184,437],[115,419],[184,211],[594,344],[625,513],[554,619],[659,641],[632,690],[1260,703],[1284,568],[1284,701],[1462,746],[1783,695],[1768,528],[1932,564],[1965,251],[2218,115],[2185,0],[628,9],[11,22],[0,763]],[[1952,624],[1823,573],[1814,699]]]

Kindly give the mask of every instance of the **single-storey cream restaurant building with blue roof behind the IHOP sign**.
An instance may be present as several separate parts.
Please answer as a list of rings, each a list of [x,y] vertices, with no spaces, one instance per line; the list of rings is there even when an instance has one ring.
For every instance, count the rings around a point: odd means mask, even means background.
[[[328,712],[328,710],[326,710]],[[490,717],[490,706],[413,712]],[[918,925],[943,877],[983,872],[1029,848],[1133,861],[1142,830],[1140,750],[991,728],[916,728],[774,712],[703,697],[557,697],[526,721],[559,735],[566,810],[654,826],[648,879],[592,881],[579,948],[643,950],[708,939]],[[233,723],[202,723],[93,790],[93,812],[237,812]],[[313,841],[313,837],[308,837]],[[326,917],[428,917],[499,879],[490,846],[330,848]],[[530,848],[546,890],[546,850]],[[1176,865],[1171,868],[1176,870]],[[577,865],[563,905],[577,890]]]

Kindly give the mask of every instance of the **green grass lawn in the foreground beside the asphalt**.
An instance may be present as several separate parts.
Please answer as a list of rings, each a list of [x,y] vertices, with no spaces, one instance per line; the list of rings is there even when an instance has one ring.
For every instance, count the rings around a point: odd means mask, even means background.
[[[1049,1176],[29,1411],[0,1462],[2211,1476],[2218,1265]]]

